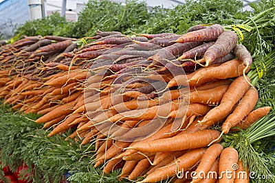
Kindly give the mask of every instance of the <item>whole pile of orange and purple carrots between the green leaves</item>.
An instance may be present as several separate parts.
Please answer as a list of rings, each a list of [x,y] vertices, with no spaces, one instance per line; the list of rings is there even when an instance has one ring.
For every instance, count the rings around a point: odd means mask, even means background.
[[[186,34],[98,32],[86,45],[27,37],[0,48],[0,97],[14,110],[43,114],[48,136],[93,143],[94,167],[120,180],[248,182],[201,172],[248,171],[219,144],[270,111],[245,76],[252,64],[235,32],[195,25]],[[221,125],[221,132],[212,127]],[[238,164],[239,169],[233,169]],[[181,170],[194,175],[179,178]],[[181,172],[182,173],[182,172]]]

